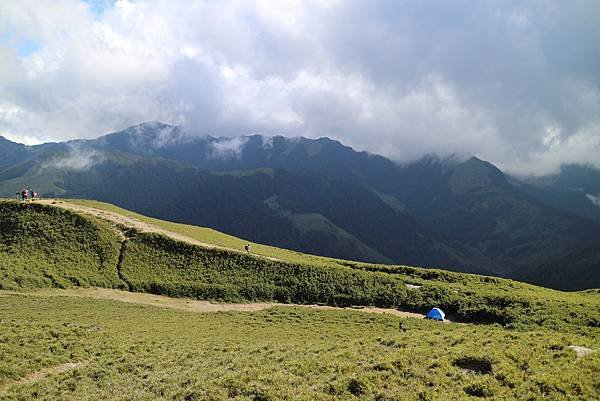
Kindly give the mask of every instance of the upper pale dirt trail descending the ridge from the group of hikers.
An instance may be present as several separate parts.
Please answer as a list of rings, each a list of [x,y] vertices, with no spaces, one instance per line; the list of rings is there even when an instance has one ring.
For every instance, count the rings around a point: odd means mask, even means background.
[[[143,221],[135,219],[133,217],[123,216],[122,214],[115,213],[115,212],[109,212],[107,210],[97,209],[97,208],[90,207],[90,206],[76,205],[74,203],[69,203],[69,202],[55,200],[55,199],[41,199],[41,200],[36,201],[36,203],[41,203],[41,204],[50,205],[50,206],[56,206],[56,207],[60,207],[63,209],[72,210],[74,212],[90,214],[92,216],[95,216],[95,217],[98,217],[98,218],[101,218],[104,220],[108,220],[114,224],[122,224],[126,227],[132,227],[143,233],[162,234],[162,235],[170,237],[174,240],[187,242],[188,244],[197,245],[197,246],[201,246],[204,248],[224,249],[224,250],[228,250],[228,251],[232,251],[232,252],[244,253],[243,251],[241,251],[239,249],[227,248],[227,247],[222,247],[222,246],[198,241],[198,240],[188,237],[186,235],[176,233],[173,231],[169,231],[169,230],[165,230],[163,228],[160,228],[160,227],[155,226],[150,223],[143,222]],[[257,254],[253,254],[253,256],[256,256],[259,258],[265,258],[265,259],[269,259],[269,260],[280,261],[280,259],[273,258],[270,256],[263,256],[263,255],[257,255]]]

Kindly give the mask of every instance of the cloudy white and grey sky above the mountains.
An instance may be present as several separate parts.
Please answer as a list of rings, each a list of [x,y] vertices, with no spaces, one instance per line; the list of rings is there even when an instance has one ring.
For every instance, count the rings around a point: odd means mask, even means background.
[[[2,0],[0,135],[144,121],[600,168],[600,2]]]

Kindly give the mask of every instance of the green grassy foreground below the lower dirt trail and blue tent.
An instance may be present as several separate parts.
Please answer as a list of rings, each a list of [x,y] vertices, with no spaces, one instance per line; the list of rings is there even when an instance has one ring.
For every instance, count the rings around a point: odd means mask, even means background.
[[[600,346],[572,333],[359,312],[197,314],[0,292],[0,398],[597,399],[600,353],[577,359],[571,344]]]

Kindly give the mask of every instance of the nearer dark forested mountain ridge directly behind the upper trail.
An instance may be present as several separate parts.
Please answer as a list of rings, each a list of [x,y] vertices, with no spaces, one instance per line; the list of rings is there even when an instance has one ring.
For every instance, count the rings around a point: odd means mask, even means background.
[[[64,185],[73,197],[114,201],[158,218],[308,253],[427,265],[444,260],[408,216],[361,187],[322,176],[211,174],[167,161],[126,167],[104,162],[91,171],[68,172]]]

